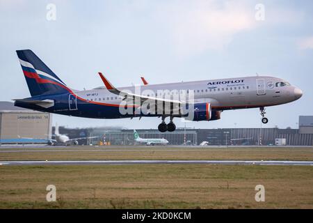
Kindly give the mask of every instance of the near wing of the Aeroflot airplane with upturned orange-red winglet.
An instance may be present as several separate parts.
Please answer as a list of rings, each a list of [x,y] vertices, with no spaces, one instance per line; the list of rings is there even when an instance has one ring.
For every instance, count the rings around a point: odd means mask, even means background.
[[[171,107],[171,111],[177,111],[182,107],[182,105],[186,104],[186,102],[181,101],[181,100],[171,100],[171,99],[166,99],[166,98],[155,98],[155,97],[150,97],[150,96],[145,96],[145,95],[137,95],[134,93],[127,93],[125,91],[120,91],[116,89],[104,75],[102,75],[101,72],[99,72],[99,76],[102,79],[102,82],[104,82],[104,85],[106,86],[106,89],[110,91],[111,93],[115,93],[116,95],[121,95],[124,97],[123,100],[130,98],[138,102],[141,102],[141,105],[143,102],[149,101],[150,106],[157,105],[158,102],[163,103],[166,102],[168,105]]]

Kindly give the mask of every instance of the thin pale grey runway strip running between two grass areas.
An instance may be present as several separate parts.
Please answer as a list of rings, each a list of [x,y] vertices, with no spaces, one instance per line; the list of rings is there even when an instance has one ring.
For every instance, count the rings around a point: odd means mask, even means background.
[[[127,164],[218,164],[313,166],[313,161],[282,160],[54,160],[54,161],[2,161],[0,165],[127,165]]]

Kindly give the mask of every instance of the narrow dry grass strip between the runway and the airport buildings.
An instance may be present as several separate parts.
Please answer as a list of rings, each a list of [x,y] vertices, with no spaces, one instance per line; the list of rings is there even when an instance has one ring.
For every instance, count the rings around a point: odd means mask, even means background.
[[[49,151],[53,149],[54,151]],[[311,148],[14,148],[0,160],[313,160]],[[35,151],[29,151],[35,150]],[[28,152],[29,151],[29,152]]]

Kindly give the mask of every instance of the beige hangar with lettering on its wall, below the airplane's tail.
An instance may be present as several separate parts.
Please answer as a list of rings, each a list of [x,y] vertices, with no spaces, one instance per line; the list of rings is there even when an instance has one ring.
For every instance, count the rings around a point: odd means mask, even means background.
[[[47,143],[49,135],[51,114],[0,102],[0,144]]]

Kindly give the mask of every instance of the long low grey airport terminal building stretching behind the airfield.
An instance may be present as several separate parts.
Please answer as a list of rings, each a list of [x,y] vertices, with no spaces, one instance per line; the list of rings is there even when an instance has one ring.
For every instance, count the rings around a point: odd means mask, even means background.
[[[303,117],[306,121],[303,124]],[[310,117],[312,119],[310,119]],[[311,122],[312,121],[312,122]],[[312,123],[312,125],[310,125]],[[134,130],[121,128],[88,128],[67,129],[60,127],[63,134],[77,138],[82,136],[97,137],[82,144],[134,145]],[[207,141],[212,146],[313,146],[313,116],[300,116],[298,129],[280,128],[218,128],[195,129],[177,128],[175,132],[159,132],[155,129],[138,129],[139,136],[144,139],[163,138],[170,145],[199,145]],[[280,143],[284,141],[284,143]]]

